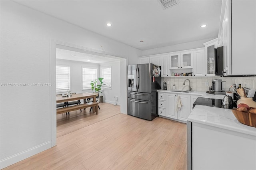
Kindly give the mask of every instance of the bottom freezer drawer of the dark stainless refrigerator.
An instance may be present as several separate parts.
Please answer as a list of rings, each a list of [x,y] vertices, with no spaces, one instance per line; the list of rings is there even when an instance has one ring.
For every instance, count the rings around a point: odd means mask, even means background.
[[[151,101],[128,98],[128,115],[151,121]]]

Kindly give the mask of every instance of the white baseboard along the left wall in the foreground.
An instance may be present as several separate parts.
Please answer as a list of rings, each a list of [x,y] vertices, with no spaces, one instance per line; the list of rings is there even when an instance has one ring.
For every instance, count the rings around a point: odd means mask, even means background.
[[[24,160],[30,156],[38,154],[38,153],[40,153],[46,149],[49,149],[51,147],[52,147],[52,141],[48,141],[48,142],[45,142],[38,146],[35,146],[33,148],[30,148],[28,150],[25,150],[23,152],[20,152],[18,154],[14,154],[12,156],[4,158],[3,160],[0,160],[0,169],[6,168],[7,166],[15,164],[21,160]]]

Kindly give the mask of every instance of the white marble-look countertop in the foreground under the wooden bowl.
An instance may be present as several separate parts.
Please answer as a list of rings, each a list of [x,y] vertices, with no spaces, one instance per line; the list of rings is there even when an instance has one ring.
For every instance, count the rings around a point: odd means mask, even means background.
[[[238,122],[230,109],[196,105],[188,121],[256,136],[256,128]]]

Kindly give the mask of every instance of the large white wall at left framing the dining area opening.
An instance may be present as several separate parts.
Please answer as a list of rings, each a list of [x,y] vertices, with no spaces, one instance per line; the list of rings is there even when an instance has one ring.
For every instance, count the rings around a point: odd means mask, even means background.
[[[51,42],[58,40],[137,63],[141,51],[12,1],[0,1],[1,83],[54,83]],[[53,71],[54,72],[54,71]],[[55,72],[54,72],[55,73]],[[124,75],[126,76],[126,75]],[[54,145],[53,87],[1,87],[0,168]],[[12,101],[12,102],[10,102]],[[14,104],[15,103],[15,104]],[[56,128],[56,127],[55,127]],[[56,140],[56,139],[55,139]],[[53,142],[53,143],[52,143]]]

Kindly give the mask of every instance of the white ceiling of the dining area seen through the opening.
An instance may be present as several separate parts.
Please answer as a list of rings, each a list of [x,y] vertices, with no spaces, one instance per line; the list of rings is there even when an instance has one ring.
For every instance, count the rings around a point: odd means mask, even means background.
[[[117,57],[106,57],[100,55],[93,55],[89,53],[81,53],[77,51],[71,51],[67,49],[56,48],[56,58],[57,59],[66,59],[72,61],[82,61],[88,63],[108,63],[112,61],[120,61]]]

